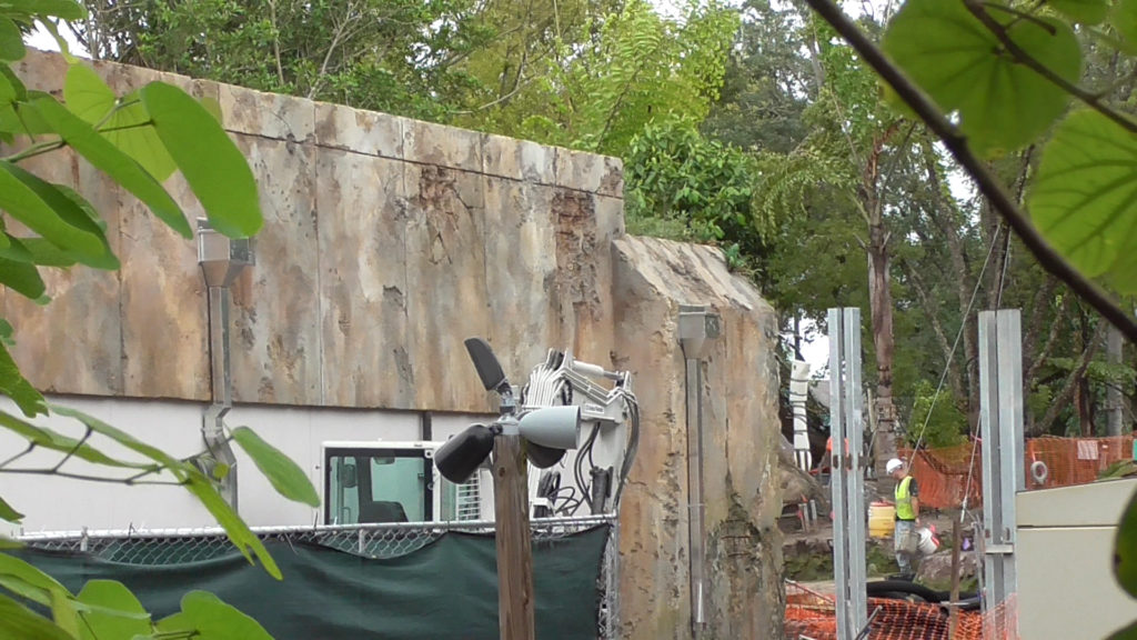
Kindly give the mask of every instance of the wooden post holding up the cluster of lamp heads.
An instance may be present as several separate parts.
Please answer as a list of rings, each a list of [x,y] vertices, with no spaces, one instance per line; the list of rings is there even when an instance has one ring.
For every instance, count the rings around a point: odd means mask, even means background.
[[[533,553],[529,531],[529,483],[521,436],[493,438],[497,515],[498,625],[501,640],[533,640]]]

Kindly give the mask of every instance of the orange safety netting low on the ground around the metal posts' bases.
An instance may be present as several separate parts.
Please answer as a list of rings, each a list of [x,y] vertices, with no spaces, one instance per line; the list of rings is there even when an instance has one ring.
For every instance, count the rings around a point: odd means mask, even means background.
[[[866,640],[1019,640],[1014,600],[987,613],[958,612],[954,635],[951,614],[940,605],[870,598],[869,614],[878,608]],[[788,640],[836,640],[832,599],[788,585],[785,631]]]

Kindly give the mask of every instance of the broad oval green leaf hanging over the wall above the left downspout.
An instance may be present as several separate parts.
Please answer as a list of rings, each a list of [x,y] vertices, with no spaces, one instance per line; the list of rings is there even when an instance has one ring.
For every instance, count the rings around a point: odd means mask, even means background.
[[[260,230],[260,198],[252,170],[213,115],[181,89],[147,84],[142,102],[215,229],[231,237]]]

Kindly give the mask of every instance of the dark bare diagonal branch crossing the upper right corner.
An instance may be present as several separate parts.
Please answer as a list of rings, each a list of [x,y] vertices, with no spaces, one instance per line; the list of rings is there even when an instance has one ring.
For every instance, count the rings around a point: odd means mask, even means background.
[[[857,54],[879,74],[929,129],[944,141],[956,162],[976,181],[991,206],[1014,229],[1015,233],[1038,260],[1038,263],[1065,282],[1078,296],[1089,303],[1110,323],[1121,330],[1131,343],[1137,343],[1137,321],[1121,310],[1105,292],[1065,261],[1038,230],[1027,220],[1006,189],[987,166],[968,147],[966,139],[948,122],[923,91],[908,80],[885,54],[838,8],[832,0],[805,0],[814,11],[843,36]]]

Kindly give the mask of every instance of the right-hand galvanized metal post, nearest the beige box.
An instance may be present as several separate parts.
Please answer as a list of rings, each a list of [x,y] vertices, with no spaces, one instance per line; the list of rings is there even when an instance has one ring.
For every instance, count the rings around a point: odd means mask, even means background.
[[[1015,492],[1026,489],[1022,328],[1016,309],[979,313],[979,422],[984,453],[984,609],[1016,591]],[[985,638],[995,621],[985,618]]]

